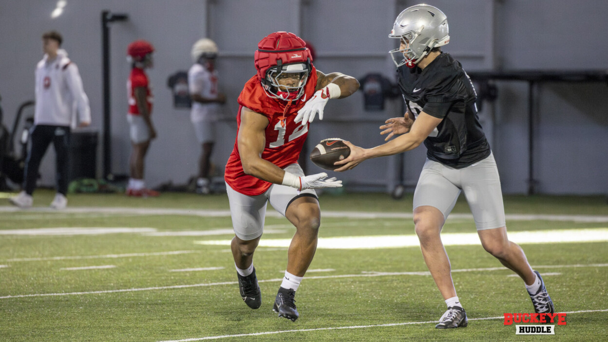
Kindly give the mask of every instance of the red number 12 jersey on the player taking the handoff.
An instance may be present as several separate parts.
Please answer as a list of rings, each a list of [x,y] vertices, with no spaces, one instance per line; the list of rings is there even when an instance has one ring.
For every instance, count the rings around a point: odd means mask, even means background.
[[[241,157],[238,154],[238,128],[241,125],[241,108],[247,107],[254,112],[266,115],[269,124],[266,127],[266,146],[262,152],[262,159],[285,168],[289,164],[297,163],[302,151],[302,146],[308,136],[308,125],[302,126],[295,123],[295,116],[306,100],[313,97],[317,85],[317,70],[313,67],[308,82],[304,88],[304,94],[298,100],[291,103],[285,116],[283,112],[288,101],[270,98],[264,92],[257,76],[247,81],[241,95],[238,97],[240,104],[237,113],[237,140],[226,163],[224,179],[235,191],[247,196],[263,194],[272,183],[266,182],[254,176],[249,176],[243,171]]]

